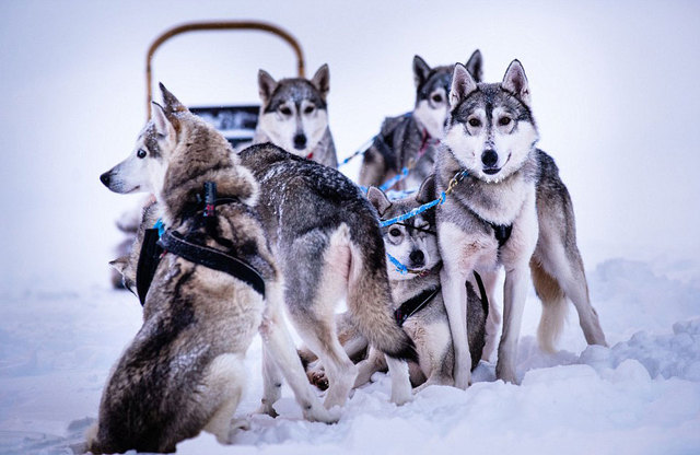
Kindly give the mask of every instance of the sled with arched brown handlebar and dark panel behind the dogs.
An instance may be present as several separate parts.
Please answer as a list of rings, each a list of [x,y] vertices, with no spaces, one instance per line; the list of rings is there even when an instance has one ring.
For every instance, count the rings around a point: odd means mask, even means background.
[[[266,22],[257,21],[215,21],[215,22],[189,22],[168,28],[159,35],[149,47],[145,58],[145,118],[151,117],[151,101],[153,95],[152,60],[155,51],[170,38],[191,32],[242,32],[257,31],[270,33],[289,44],[296,56],[296,73],[304,77],[304,54],[302,47],[289,32]],[[258,122],[260,106],[232,105],[232,106],[190,106],[189,110],[202,117],[217,128],[233,145],[253,140],[255,127]]]

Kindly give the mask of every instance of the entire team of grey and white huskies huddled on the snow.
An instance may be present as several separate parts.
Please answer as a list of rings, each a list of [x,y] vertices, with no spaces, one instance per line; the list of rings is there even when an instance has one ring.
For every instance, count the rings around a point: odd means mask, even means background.
[[[536,148],[523,66],[514,60],[500,83],[483,83],[478,50],[466,66],[431,68],[416,56],[413,75],[415,109],[387,118],[363,153],[359,184],[369,190],[337,171],[326,65],[311,80],[260,70],[254,144],[236,151],[161,84],[163,103],[133,151],[101,176],[154,202],[130,255],[113,261],[142,298],[143,325],[107,380],[86,450],[173,452],[201,430],[231,443],[247,428],[233,416],[256,334],[258,411],[272,417],[283,381],[305,419],[330,423],[376,371],[388,370],[400,405],[412,386],[467,388],[495,349],[497,377],[517,382],[529,277],[542,349],[555,349],[567,300],[586,341],[606,345],[569,192]],[[420,188],[392,200],[376,188],[387,180]],[[342,300],[348,311],[336,314]],[[323,402],[312,384],[327,388]]]

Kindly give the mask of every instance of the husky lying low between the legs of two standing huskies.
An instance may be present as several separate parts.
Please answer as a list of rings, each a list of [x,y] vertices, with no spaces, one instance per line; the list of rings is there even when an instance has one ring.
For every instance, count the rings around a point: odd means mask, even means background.
[[[420,187],[417,195],[389,201],[384,192],[370,187],[368,198],[376,208],[382,219],[390,219],[435,199],[435,182],[433,176]],[[413,386],[420,388],[438,384],[454,385],[453,365],[454,353],[447,314],[440,293],[440,270],[442,261],[435,236],[435,211],[428,210],[404,223],[393,224],[382,229],[386,252],[406,265],[410,273],[401,275],[390,261],[387,262],[392,295],[394,296],[395,315],[405,319],[404,330],[411,337],[418,350],[419,362],[411,363],[410,375]],[[486,316],[488,305],[475,292],[478,289],[471,281],[467,282],[467,330],[469,334],[469,349],[471,351],[471,369],[476,368],[481,358],[486,340]],[[409,302],[404,308],[420,306],[413,314],[400,314],[401,303]],[[348,355],[360,361],[368,348],[364,338],[354,328],[347,314],[336,316],[341,343]],[[310,381],[325,388],[327,381],[320,362],[307,349],[301,349],[300,355],[307,365]],[[313,362],[313,363],[312,363]],[[366,359],[358,364],[359,374],[355,387],[370,381],[376,371],[386,370],[386,363],[376,350],[370,350]]]

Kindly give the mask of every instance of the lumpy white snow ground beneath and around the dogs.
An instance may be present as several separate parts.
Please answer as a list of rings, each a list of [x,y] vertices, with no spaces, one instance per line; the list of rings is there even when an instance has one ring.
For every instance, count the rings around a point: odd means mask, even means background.
[[[609,349],[585,346],[572,308],[561,351],[542,353],[534,338],[539,303],[530,295],[521,385],[495,381],[494,365],[482,362],[468,390],[429,387],[397,407],[388,377],[377,373],[332,425],[302,420],[285,388],[280,417],[253,417],[235,446],[202,433],[178,453],[699,453],[698,266],[662,268],[614,259],[590,272]],[[70,454],[97,415],[112,363],[140,326],[138,301],[95,288],[14,291],[0,303],[0,453]],[[238,416],[258,406],[259,359],[255,341]]]

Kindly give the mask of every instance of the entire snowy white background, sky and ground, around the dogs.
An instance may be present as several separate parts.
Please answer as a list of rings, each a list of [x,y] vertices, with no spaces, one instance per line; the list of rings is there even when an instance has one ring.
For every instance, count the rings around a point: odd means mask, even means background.
[[[530,295],[521,386],[486,363],[467,392],[433,387],[397,408],[377,375],[330,427],[300,420],[288,392],[282,418],[256,417],[238,446],[205,434],[178,452],[700,453],[699,3],[19,0],[0,2],[0,453],[70,453],[96,416],[140,325],[106,265],[114,220],[139,198],[97,177],[144,121],[151,40],[212,19],[279,24],[310,75],[329,63],[340,158],[412,107],[415,54],[443,65],[479,48],[488,81],[518,58],[610,349],[586,349],[571,312],[562,351],[539,352]],[[258,68],[295,71],[287,45],[259,33],[180,36],[154,60],[155,79],[190,105],[256,103]],[[248,368],[242,415],[260,395],[257,342]]]

